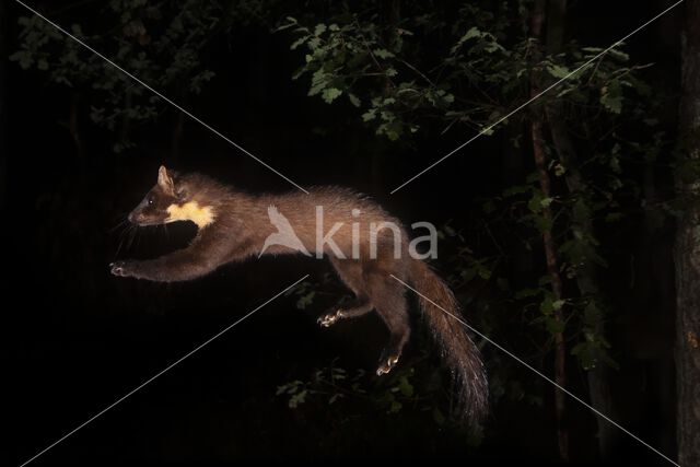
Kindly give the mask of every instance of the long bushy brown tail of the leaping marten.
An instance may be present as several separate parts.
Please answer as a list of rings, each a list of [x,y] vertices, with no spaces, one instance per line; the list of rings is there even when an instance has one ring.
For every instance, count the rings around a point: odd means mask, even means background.
[[[457,300],[425,262],[411,261],[410,272],[413,287],[425,295],[419,295],[420,306],[459,388],[459,413],[469,422],[478,422],[489,408],[489,384],[479,349],[467,335],[464,324],[455,318],[464,320]]]

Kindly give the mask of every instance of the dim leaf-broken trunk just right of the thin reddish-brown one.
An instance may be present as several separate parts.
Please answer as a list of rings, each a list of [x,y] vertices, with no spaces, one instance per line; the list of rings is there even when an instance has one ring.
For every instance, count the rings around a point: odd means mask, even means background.
[[[563,48],[567,21],[567,0],[550,0],[547,12],[547,52],[559,54]],[[579,170],[579,157],[574,144],[571,141],[564,120],[564,108],[559,100],[552,100],[546,106],[547,121],[551,132],[552,142],[561,164],[567,168],[564,178],[570,192],[584,192],[585,182]],[[580,205],[580,209],[573,210],[573,229],[587,237],[595,237],[593,222],[587,205]],[[597,297],[600,293],[595,265],[591,259],[576,271],[576,285],[582,296]],[[594,332],[605,335],[605,325],[600,319],[595,325]],[[612,398],[608,383],[609,369],[605,364],[595,365],[586,372],[588,381],[588,397],[591,405],[602,413],[614,417]],[[596,417],[598,425],[598,450],[603,460],[609,459],[612,446],[619,437],[619,430],[608,421]]]

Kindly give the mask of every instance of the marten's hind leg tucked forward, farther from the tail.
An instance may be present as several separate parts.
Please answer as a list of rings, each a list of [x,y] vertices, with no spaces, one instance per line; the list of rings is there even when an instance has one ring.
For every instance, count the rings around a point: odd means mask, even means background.
[[[374,305],[365,291],[366,288],[360,261],[357,259],[338,259],[331,257],[330,262],[338,272],[340,280],[352,290],[355,299],[342,308],[335,306],[322,315],[318,318],[318,324],[323,327],[329,327],[337,323],[338,319],[355,318],[366,315],[374,310]]]

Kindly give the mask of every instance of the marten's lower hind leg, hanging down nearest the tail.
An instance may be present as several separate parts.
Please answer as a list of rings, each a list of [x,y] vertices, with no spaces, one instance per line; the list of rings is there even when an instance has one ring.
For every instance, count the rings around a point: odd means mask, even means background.
[[[406,290],[384,271],[368,276],[370,300],[389,329],[389,341],[380,357],[377,375],[392,371],[401,357],[404,346],[410,336],[410,320],[406,302]]]

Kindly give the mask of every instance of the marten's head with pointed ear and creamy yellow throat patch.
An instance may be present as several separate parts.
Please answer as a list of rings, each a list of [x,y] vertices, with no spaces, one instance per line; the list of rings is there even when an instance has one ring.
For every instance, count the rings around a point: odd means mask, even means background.
[[[214,220],[211,206],[200,205],[186,177],[161,165],[158,183],[129,214],[137,225],[158,225],[175,221],[192,221],[202,229]]]

